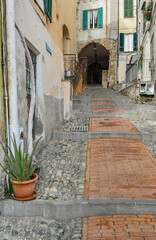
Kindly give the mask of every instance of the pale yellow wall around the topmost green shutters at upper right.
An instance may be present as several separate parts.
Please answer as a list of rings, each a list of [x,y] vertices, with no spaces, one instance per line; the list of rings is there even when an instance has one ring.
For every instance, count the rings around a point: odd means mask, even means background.
[[[136,0],[133,0],[133,18],[124,18],[124,0],[120,0],[119,4],[119,32],[136,32]]]

